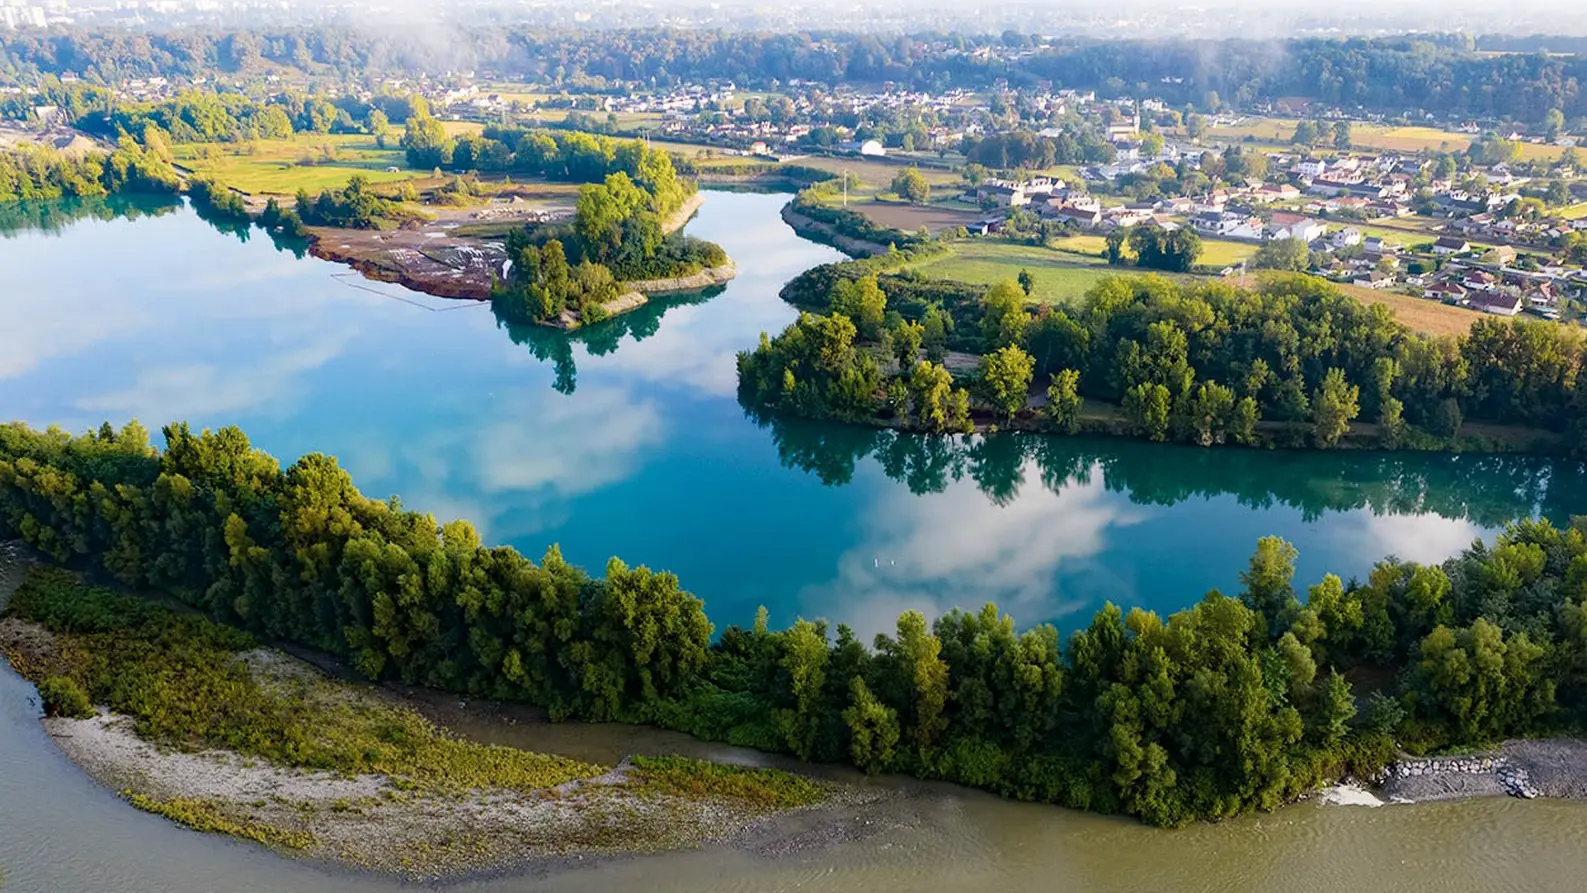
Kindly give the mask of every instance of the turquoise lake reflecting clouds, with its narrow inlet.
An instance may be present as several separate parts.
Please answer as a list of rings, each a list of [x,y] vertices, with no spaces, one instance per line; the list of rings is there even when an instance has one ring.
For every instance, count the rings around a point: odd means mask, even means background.
[[[794,235],[784,201],[713,192],[689,232],[740,278],[573,338],[503,328],[484,305],[368,282],[181,206],[11,208],[0,419],[238,425],[282,463],[335,454],[365,495],[465,517],[487,542],[535,558],[557,542],[595,573],[611,555],[674,571],[717,627],[765,604],[774,623],[870,634],[903,609],[997,601],[1068,631],[1105,601],[1166,612],[1235,592],[1265,535],[1298,546],[1309,585],[1587,506],[1579,465],[1536,458],[757,425],[735,352],[794,319],[787,279],[840,257]]]

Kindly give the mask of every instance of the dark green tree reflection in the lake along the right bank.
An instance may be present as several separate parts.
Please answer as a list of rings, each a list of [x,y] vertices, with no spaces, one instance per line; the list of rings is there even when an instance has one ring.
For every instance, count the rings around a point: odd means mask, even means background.
[[[1136,504],[1232,495],[1254,509],[1293,508],[1308,522],[1365,509],[1436,514],[1481,527],[1535,515],[1565,523],[1587,504],[1587,468],[1544,457],[1200,449],[1024,433],[941,436],[746,414],[770,428],[784,466],[824,484],[847,484],[855,466],[873,458],[911,493],[940,493],[968,477],[998,506],[1019,496],[1032,460],[1041,485],[1054,493],[1089,484],[1100,471],[1108,490]]]

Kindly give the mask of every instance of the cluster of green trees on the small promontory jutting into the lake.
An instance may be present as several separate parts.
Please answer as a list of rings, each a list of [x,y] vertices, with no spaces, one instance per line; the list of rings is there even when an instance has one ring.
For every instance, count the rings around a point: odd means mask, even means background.
[[[525,132],[517,144],[516,157],[535,155],[535,173],[584,186],[571,224],[508,235],[513,270],[492,293],[501,319],[546,322],[571,311],[579,322],[600,322],[619,282],[689,276],[728,262],[714,243],[667,232],[668,217],[695,190],[667,152],[589,133]]]

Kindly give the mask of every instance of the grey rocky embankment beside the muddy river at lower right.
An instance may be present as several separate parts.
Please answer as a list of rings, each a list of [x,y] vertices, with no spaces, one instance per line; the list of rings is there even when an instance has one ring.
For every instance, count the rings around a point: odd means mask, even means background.
[[[1495,752],[1392,763],[1371,779],[1390,799],[1468,796],[1587,799],[1587,741],[1511,741]]]

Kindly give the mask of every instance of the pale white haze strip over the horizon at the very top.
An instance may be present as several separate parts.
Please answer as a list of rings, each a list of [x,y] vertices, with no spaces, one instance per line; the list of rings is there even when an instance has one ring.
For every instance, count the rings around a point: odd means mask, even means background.
[[[6,0],[32,5],[33,0]],[[52,24],[168,29],[221,24],[513,24],[606,27],[687,27],[722,30],[857,30],[876,33],[957,30],[995,33],[1014,29],[1046,36],[1195,36],[1284,38],[1300,35],[1471,33],[1587,35],[1587,19],[1562,16],[1558,3],[1517,0],[1414,0],[1381,3],[1339,0],[1325,6],[1289,0],[998,0],[963,6],[932,0],[816,0],[778,5],[767,0],[605,0],[565,5],[551,0],[54,0],[44,3]]]

